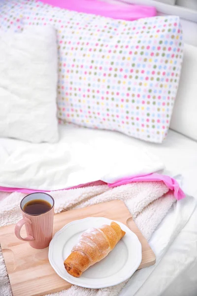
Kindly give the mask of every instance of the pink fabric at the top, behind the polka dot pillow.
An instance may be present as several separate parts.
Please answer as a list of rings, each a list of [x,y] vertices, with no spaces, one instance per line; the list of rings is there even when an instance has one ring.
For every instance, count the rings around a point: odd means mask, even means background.
[[[41,0],[41,2],[78,12],[92,13],[129,21],[143,17],[156,16],[157,14],[156,8],[153,6],[131,5],[125,3],[117,5],[99,0]]]

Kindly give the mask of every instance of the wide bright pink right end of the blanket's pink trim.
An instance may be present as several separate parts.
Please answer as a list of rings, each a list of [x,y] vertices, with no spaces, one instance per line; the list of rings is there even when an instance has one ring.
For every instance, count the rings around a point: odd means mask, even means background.
[[[157,173],[152,173],[148,175],[138,175],[138,176],[133,176],[133,177],[128,177],[128,178],[122,178],[119,181],[115,183],[108,183],[109,187],[116,187],[120,185],[125,185],[131,182],[150,182],[150,181],[163,181],[164,184],[170,189],[174,191],[174,197],[177,200],[180,200],[185,197],[185,193],[183,190],[180,188],[178,182],[166,175],[161,175]]]

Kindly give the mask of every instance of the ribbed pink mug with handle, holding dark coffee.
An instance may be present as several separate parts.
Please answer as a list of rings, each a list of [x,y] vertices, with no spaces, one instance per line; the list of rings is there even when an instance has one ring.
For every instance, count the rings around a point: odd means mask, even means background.
[[[51,207],[47,212],[40,214],[26,213],[24,208],[33,200],[44,200]],[[15,226],[15,235],[18,239],[29,242],[35,249],[44,249],[49,246],[53,235],[54,199],[47,193],[31,193],[21,200],[21,211],[23,219]],[[25,224],[27,237],[22,238],[20,231]]]

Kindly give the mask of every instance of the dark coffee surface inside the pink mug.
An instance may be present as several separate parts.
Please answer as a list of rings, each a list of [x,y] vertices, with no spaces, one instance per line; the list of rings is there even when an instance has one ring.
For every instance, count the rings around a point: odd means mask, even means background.
[[[43,199],[33,199],[25,204],[23,211],[31,215],[43,214],[51,209],[48,201]]]

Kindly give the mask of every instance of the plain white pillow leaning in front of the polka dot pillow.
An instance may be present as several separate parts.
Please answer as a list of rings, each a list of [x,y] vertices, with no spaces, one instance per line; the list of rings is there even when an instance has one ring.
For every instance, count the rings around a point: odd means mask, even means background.
[[[56,31],[0,32],[0,137],[58,141]]]

